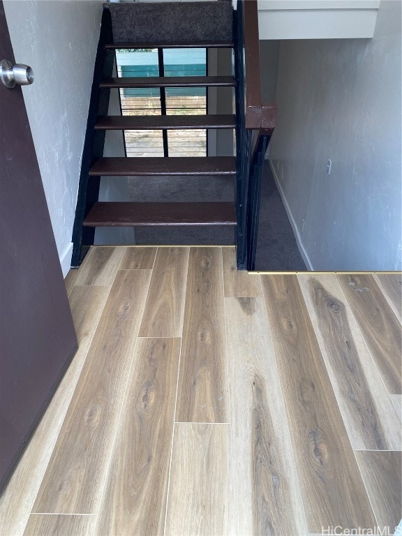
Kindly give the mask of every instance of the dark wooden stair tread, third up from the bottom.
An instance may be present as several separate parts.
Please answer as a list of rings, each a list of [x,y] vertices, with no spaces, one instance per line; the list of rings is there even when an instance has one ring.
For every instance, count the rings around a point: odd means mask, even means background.
[[[234,128],[234,115],[107,115],[95,128],[106,131]]]

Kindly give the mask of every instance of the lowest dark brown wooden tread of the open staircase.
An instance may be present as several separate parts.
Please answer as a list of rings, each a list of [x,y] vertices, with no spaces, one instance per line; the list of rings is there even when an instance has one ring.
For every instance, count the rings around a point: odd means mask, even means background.
[[[137,225],[236,225],[231,202],[97,202],[84,219],[86,227]]]

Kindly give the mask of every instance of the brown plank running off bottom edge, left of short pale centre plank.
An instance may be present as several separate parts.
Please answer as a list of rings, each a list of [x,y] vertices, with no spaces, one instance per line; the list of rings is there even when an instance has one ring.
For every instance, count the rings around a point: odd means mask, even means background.
[[[179,338],[139,338],[96,534],[163,535]]]

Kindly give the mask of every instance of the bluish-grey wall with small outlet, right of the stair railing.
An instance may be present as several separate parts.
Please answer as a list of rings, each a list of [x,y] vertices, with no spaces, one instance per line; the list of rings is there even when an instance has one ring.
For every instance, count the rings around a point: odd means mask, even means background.
[[[311,267],[402,269],[401,2],[373,39],[281,41],[276,101],[269,156]]]

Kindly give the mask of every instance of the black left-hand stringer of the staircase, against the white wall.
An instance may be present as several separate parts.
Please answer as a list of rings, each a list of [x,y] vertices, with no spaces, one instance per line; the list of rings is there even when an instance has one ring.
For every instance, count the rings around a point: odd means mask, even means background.
[[[107,50],[106,43],[112,43],[112,18],[110,11],[103,8],[101,31],[99,35],[98,49],[94,66],[94,77],[91,88],[91,100],[85,134],[84,150],[80,172],[80,184],[78,186],[77,208],[75,209],[75,221],[73,226],[73,255],[71,267],[80,266],[82,259],[89,246],[94,244],[95,229],[82,225],[94,203],[98,201],[101,177],[91,177],[89,170],[97,158],[103,156],[105,144],[105,131],[96,131],[95,125],[100,115],[107,115],[109,109],[110,88],[100,88],[101,80],[111,77],[114,66],[114,50]]]

